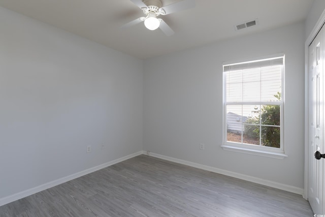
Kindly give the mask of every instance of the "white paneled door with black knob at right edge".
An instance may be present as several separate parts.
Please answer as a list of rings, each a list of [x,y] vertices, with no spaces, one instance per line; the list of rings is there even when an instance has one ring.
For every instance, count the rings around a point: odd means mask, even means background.
[[[323,204],[323,165],[317,160],[316,151],[323,153],[323,41],[321,29],[309,46],[309,174],[308,200],[315,214],[325,214]]]

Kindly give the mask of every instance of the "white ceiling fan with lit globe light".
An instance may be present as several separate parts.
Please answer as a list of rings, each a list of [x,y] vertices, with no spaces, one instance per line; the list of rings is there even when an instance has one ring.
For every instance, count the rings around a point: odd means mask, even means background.
[[[157,18],[157,16],[175,13],[185,9],[193,8],[195,6],[195,0],[182,0],[180,2],[170,4],[164,7],[161,3],[161,0],[130,1],[133,2],[136,6],[138,6],[141,10],[143,10],[143,13],[146,16],[128,22],[122,25],[121,28],[133,26],[144,21],[144,25],[148,29],[155,30],[159,27],[167,36],[173,35],[174,31],[163,19]]]

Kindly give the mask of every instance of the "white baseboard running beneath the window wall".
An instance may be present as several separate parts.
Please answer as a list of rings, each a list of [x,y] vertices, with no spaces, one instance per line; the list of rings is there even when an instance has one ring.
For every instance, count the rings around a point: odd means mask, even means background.
[[[190,161],[184,161],[184,160],[180,160],[180,159],[176,159],[176,158],[171,158],[171,157],[168,157],[168,156],[164,156],[164,155],[156,154],[156,153],[152,153],[152,152],[150,152],[148,154],[147,151],[143,151],[143,154],[146,154],[146,155],[149,155],[149,156],[152,156],[152,157],[155,157],[155,158],[160,158],[160,159],[163,159],[163,160],[172,161],[172,162],[175,162],[175,163],[184,164],[184,165],[187,165],[187,166],[191,166],[191,167],[195,167],[195,168],[199,168],[199,169],[219,173],[219,174],[222,174],[222,175],[227,175],[227,176],[231,176],[231,177],[234,177],[234,178],[243,179],[243,180],[251,181],[251,182],[254,182],[254,183],[258,183],[258,184],[263,184],[263,185],[266,185],[268,187],[280,189],[280,190],[283,190],[283,191],[304,195],[304,189],[301,189],[301,188],[298,188],[298,187],[295,187],[295,186],[292,186],[292,185],[282,184],[282,183],[279,183],[279,182],[270,181],[270,180],[266,180],[266,179],[262,179],[262,178],[257,178],[257,177],[254,177],[254,176],[244,175],[244,174],[241,174],[241,173],[231,172],[231,171],[228,171],[228,170],[223,170],[223,169],[219,169],[219,168],[215,168],[215,167],[210,167],[210,166],[206,166],[206,165],[203,165],[203,164],[197,164],[197,163],[193,163],[193,162],[190,162]]]

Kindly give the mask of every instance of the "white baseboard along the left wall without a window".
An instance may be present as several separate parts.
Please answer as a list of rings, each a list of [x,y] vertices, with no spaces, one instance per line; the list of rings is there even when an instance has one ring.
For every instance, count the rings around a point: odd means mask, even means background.
[[[44,191],[44,190],[52,188],[52,187],[54,187],[54,186],[56,186],[58,184],[62,184],[64,182],[67,182],[67,181],[70,181],[72,179],[81,177],[83,175],[87,175],[89,173],[92,173],[94,171],[103,169],[105,167],[109,167],[109,166],[111,166],[113,164],[117,164],[119,162],[134,158],[134,157],[136,157],[136,156],[138,156],[140,154],[143,154],[143,151],[138,151],[136,153],[129,154],[128,156],[125,156],[125,157],[122,157],[122,158],[107,162],[105,164],[101,164],[99,166],[95,166],[95,167],[83,170],[81,172],[77,172],[75,174],[72,174],[72,175],[69,175],[69,176],[66,176],[66,177],[63,177],[63,178],[56,179],[54,181],[47,182],[45,184],[39,185],[38,187],[28,189],[26,191],[19,192],[17,194],[10,195],[10,196],[4,197],[4,198],[0,198],[0,206],[5,205],[7,203],[11,203],[13,201],[19,200],[19,199],[24,198],[24,197],[30,196],[32,194]]]

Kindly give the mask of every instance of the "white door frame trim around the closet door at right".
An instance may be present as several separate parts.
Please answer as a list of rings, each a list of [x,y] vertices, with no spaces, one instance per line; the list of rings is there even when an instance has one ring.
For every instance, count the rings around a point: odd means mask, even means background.
[[[305,41],[305,181],[304,181],[304,195],[303,197],[308,200],[308,165],[309,165],[309,151],[308,151],[308,144],[309,144],[309,128],[308,128],[308,121],[309,121],[309,45],[312,43],[314,38],[317,36],[321,27],[325,24],[325,10],[320,15],[316,25],[314,26],[313,30],[311,31],[310,35],[308,36],[307,40]],[[325,190],[325,189],[323,189]]]

